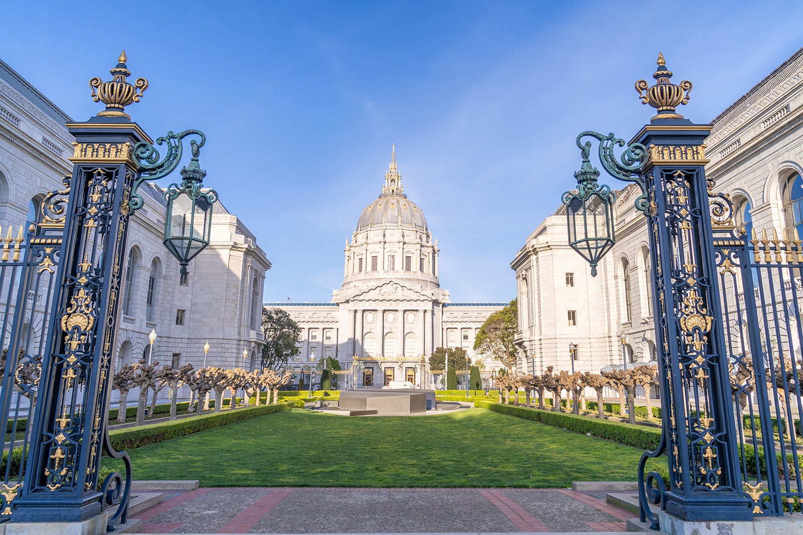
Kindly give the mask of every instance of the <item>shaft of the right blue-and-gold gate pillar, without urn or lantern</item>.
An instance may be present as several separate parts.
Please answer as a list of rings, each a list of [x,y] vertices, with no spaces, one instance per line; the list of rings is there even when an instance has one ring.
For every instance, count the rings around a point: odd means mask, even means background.
[[[647,153],[642,173],[670,461],[666,512],[683,520],[751,520],[741,491],[704,170],[709,132],[709,124],[659,113],[633,140]]]

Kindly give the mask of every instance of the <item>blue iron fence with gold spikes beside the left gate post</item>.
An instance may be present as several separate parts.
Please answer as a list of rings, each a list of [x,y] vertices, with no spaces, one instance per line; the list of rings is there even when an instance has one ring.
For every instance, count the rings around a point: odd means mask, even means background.
[[[2,461],[0,472],[0,521],[14,514],[14,500],[26,476],[28,446],[31,441],[32,415],[39,393],[42,363],[49,348],[47,326],[54,310],[56,280],[61,257],[64,214],[70,189],[70,176],[64,178],[65,189],[47,194],[38,216],[39,223],[25,229],[22,225],[0,232],[0,368],[3,370],[0,390],[0,411],[6,425],[0,425]],[[71,390],[79,395],[81,378],[75,377]],[[68,394],[65,392],[65,394]],[[108,405],[108,403],[107,403]],[[118,505],[112,519],[125,521],[130,488],[130,462],[126,454],[107,452],[123,458],[125,477],[114,472],[102,484],[103,507]],[[64,460],[63,464],[67,464]]]

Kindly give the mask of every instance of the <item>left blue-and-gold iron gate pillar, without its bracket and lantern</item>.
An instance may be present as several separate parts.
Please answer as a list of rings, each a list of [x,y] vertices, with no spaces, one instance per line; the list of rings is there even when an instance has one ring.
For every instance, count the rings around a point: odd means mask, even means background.
[[[85,123],[67,124],[75,154],[69,200],[66,209],[60,208],[66,210],[56,274],[60,286],[47,327],[25,483],[14,501],[12,522],[84,521],[104,506],[98,469],[137,173],[133,147],[151,142],[122,111],[139,99],[132,98],[133,87],[125,82],[130,72],[124,61],[123,55],[112,69],[114,83],[131,91],[108,93],[127,101],[107,106]],[[147,87],[141,80],[137,88]]]

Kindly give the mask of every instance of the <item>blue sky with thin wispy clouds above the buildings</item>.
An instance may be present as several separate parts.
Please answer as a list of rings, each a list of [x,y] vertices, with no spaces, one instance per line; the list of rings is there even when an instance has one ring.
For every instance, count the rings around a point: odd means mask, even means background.
[[[206,184],[273,267],[266,302],[322,302],[390,146],[454,302],[515,297],[587,129],[629,139],[659,51],[710,121],[801,46],[803,2],[11,2],[0,58],[75,120],[121,49],[153,137],[198,128]],[[613,179],[610,180],[613,182]]]

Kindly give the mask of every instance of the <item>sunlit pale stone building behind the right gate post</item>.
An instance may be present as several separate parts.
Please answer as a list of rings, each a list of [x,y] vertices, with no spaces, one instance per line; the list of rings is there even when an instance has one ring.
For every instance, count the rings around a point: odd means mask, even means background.
[[[748,231],[754,226],[791,234],[797,228],[803,235],[801,125],[803,49],[713,120],[706,175],[715,180],[715,193],[730,195],[736,223]],[[601,181],[622,184],[605,173]],[[516,342],[523,354],[534,357],[536,371],[549,365],[570,370],[569,343],[578,346],[574,364],[580,371],[621,366],[623,349],[628,361],[655,359],[646,219],[634,208],[635,197],[635,185],[617,192],[616,245],[602,259],[597,277],[569,249],[562,206],[538,225],[511,262],[520,303]],[[569,272],[573,287],[563,281]],[[577,325],[567,325],[569,310],[577,310]]]

